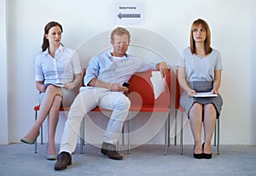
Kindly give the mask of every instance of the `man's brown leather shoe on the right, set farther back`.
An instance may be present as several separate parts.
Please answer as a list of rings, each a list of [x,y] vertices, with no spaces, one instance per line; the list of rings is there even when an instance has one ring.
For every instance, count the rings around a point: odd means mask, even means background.
[[[115,145],[106,142],[102,143],[102,154],[108,156],[110,159],[113,160],[123,159],[123,156],[121,156],[119,152],[116,150]]]

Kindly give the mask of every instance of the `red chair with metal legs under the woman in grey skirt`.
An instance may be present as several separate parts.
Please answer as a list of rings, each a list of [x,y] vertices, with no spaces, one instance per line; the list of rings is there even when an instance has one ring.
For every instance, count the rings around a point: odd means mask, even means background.
[[[183,155],[183,112],[185,110],[183,107],[179,104],[179,99],[183,93],[183,89],[180,88],[177,77],[176,77],[176,96],[175,96],[175,139],[174,139],[174,145],[177,144],[177,112],[181,111],[181,131],[180,131],[180,153]],[[216,139],[217,138],[217,139]],[[217,154],[219,154],[219,118],[215,122],[215,130],[214,130],[214,146],[216,146],[217,143]]]

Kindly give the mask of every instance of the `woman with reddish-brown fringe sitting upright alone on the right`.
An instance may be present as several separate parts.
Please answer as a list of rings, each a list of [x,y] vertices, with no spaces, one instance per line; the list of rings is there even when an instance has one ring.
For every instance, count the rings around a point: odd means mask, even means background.
[[[211,48],[211,32],[205,20],[198,19],[193,22],[190,47],[185,48],[182,55],[183,58],[177,62],[177,78],[184,90],[180,104],[189,117],[195,141],[194,157],[210,159],[215,121],[223,105],[223,99],[218,94],[223,66],[218,50]],[[202,97],[199,97],[200,94]]]

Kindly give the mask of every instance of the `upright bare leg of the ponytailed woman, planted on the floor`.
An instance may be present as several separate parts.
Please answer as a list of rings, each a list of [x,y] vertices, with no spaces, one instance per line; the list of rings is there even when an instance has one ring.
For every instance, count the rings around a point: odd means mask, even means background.
[[[59,109],[61,105],[61,96],[56,95],[48,114],[48,147],[47,153],[55,155],[55,131],[59,121]]]

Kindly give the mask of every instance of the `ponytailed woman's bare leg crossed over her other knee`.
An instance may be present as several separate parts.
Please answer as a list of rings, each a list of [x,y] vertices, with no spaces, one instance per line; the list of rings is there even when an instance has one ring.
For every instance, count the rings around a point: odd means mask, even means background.
[[[28,133],[26,133],[25,138],[26,139],[35,139],[38,136],[39,128],[44,122],[46,116],[49,113],[49,109],[51,108],[51,105],[53,104],[53,99],[55,99],[55,95],[62,95],[61,94],[61,88],[56,88],[55,86],[49,86],[46,89],[46,92],[44,94],[44,98],[41,101],[40,105],[40,111],[38,112],[38,119],[33,124],[32,128],[29,130]]]

